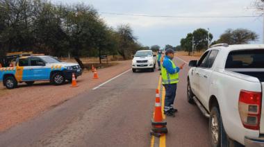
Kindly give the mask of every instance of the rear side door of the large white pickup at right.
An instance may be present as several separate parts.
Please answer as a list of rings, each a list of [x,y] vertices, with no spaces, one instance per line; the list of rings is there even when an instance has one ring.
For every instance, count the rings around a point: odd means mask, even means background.
[[[199,75],[199,100],[203,105],[208,104],[209,102],[209,94],[210,94],[210,87],[211,87],[211,75],[213,73],[212,67],[213,63],[215,62],[215,58],[219,50],[213,49],[208,53],[208,58],[205,62],[201,63],[197,68],[197,73]]]

